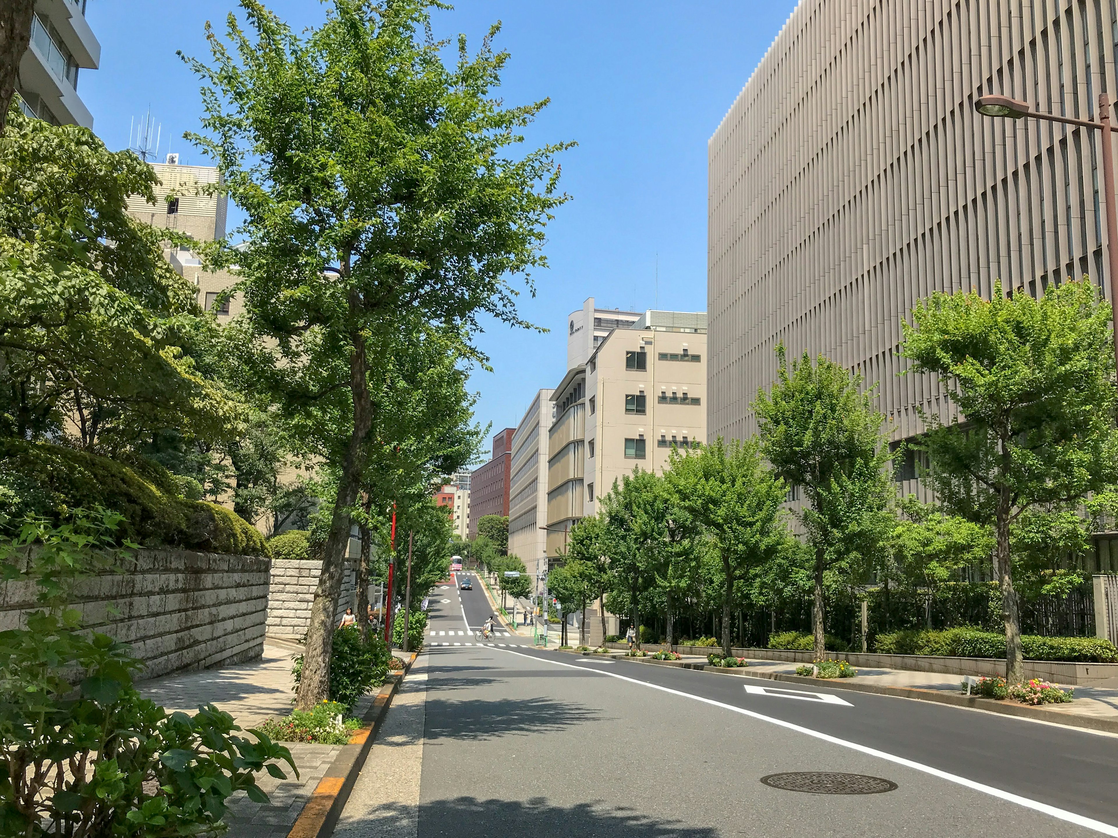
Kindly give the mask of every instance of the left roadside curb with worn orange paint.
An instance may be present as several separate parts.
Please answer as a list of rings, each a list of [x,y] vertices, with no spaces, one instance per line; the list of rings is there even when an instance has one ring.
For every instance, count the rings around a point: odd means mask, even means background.
[[[377,731],[380,730],[385,721],[385,714],[392,703],[392,696],[399,689],[400,683],[411,670],[411,665],[416,661],[419,653],[413,651],[410,659],[405,664],[404,672],[398,675],[389,674],[385,685],[377,693],[372,701],[372,706],[366,712],[361,720],[364,724],[353,731],[349,744],[342,745],[341,751],[330,763],[325,775],[319,780],[318,787],[306,801],[303,811],[287,832],[287,838],[329,838],[333,835],[338,819],[349,801],[350,792],[357,782],[357,775],[364,766],[364,760],[372,749]]]

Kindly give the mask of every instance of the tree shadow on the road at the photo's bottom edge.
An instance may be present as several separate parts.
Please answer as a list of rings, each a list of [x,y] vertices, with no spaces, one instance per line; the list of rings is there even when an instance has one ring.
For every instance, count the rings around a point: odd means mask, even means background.
[[[419,838],[491,838],[511,830],[515,835],[561,835],[563,838],[717,838],[718,830],[660,820],[627,808],[586,802],[552,806],[544,798],[530,800],[433,800],[419,808]]]

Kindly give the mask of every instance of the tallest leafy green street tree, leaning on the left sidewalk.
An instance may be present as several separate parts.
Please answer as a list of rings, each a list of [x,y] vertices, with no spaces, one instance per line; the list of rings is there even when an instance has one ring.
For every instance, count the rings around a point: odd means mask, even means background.
[[[479,317],[527,325],[509,277],[544,264],[542,228],[556,193],[548,145],[513,159],[520,130],[547,104],[505,107],[492,94],[508,59],[490,31],[479,53],[458,40],[453,66],[430,38],[428,0],[335,0],[302,36],[256,0],[248,30],[229,18],[228,42],[209,28],[205,79],[209,136],[244,210],[245,242],[214,264],[236,263],[249,321],[275,341],[285,372],[332,366],[350,398],[331,451],[338,501],[323,550],[297,706],[326,695],[330,622],[376,407],[369,378],[396,336],[437,332],[456,354]],[[532,286],[529,279],[529,289]],[[312,391],[318,392],[318,390]]]

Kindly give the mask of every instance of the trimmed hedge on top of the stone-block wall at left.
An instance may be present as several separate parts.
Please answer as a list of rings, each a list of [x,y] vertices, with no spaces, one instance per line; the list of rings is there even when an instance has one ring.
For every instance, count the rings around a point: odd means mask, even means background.
[[[95,506],[123,515],[122,537],[144,546],[268,554],[256,527],[224,506],[182,497],[174,476],[155,463],[0,439],[0,512],[57,517]]]

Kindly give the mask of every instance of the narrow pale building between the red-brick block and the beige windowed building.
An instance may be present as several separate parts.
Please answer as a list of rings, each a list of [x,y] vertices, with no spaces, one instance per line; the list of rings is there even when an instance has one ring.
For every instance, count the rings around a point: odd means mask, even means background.
[[[555,416],[550,390],[540,390],[512,435],[509,479],[509,552],[533,577],[546,573],[548,507],[548,429]],[[534,590],[533,590],[534,593]]]

